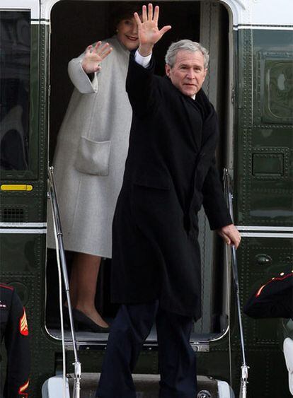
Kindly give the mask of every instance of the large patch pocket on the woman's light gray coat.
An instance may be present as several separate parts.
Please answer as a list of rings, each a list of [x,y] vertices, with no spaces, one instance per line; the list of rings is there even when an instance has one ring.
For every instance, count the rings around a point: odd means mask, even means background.
[[[111,141],[93,141],[81,136],[74,163],[75,168],[86,174],[108,175],[110,145]]]

